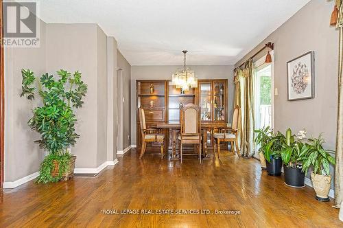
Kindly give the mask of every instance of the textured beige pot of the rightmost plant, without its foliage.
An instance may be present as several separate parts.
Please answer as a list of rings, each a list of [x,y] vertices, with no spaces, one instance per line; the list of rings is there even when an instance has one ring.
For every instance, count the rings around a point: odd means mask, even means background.
[[[311,173],[312,184],[316,192],[318,201],[329,201],[329,191],[331,186],[331,175],[324,176],[320,174]]]

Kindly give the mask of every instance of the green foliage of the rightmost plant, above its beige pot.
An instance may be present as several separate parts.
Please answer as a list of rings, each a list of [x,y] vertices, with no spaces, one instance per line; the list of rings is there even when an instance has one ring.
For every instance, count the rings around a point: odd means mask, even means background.
[[[328,176],[330,174],[330,163],[335,165],[335,159],[329,154],[329,151],[333,150],[324,149],[322,146],[324,144],[322,134],[318,138],[308,140],[309,156],[303,159],[303,171],[307,173],[309,167],[312,166],[315,174]]]

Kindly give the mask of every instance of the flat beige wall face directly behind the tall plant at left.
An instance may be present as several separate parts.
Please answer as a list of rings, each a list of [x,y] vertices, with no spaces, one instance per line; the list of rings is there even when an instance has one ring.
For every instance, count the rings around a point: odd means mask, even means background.
[[[48,24],[47,71],[54,73],[66,69],[82,73],[88,84],[82,109],[76,111],[80,135],[71,152],[78,156],[77,168],[97,167],[97,25]]]

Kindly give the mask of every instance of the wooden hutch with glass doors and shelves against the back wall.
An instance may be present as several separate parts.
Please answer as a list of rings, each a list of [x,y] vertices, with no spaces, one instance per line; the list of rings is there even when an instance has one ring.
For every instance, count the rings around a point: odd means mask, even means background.
[[[201,108],[202,125],[223,124],[228,115],[228,80],[198,80],[198,88],[181,94],[170,80],[137,80],[137,145],[141,146],[138,109],[145,111],[147,128],[158,123],[179,123],[180,108],[192,103]],[[169,135],[166,132],[165,135]],[[170,139],[169,139],[170,140]],[[170,145],[170,141],[169,141]]]

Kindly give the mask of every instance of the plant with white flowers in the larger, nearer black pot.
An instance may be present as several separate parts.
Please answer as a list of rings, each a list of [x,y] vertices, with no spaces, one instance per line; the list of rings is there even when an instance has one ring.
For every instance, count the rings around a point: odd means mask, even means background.
[[[303,172],[303,160],[307,159],[309,146],[302,140],[306,137],[306,131],[300,130],[298,140],[294,140],[292,130],[286,131],[286,143],[281,149],[281,158],[283,160],[283,170],[285,171],[285,184],[291,187],[305,186],[305,172]]]

